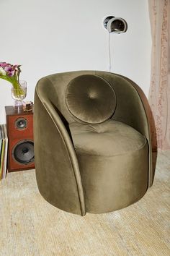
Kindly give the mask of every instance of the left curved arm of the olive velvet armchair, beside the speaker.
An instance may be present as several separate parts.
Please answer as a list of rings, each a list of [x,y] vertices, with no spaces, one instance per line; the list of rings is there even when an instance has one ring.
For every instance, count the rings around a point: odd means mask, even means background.
[[[53,88],[49,88],[49,82],[42,79],[35,88],[34,141],[37,186],[41,195],[52,205],[84,216],[84,192],[71,138],[53,103],[44,90],[41,90],[47,87],[46,91],[53,91]]]

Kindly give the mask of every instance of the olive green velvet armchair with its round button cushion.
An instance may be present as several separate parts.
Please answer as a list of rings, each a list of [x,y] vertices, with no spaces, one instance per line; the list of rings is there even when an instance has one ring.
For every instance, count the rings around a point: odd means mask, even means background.
[[[51,74],[35,88],[37,186],[84,216],[125,208],[153,182],[148,101],[120,74]]]

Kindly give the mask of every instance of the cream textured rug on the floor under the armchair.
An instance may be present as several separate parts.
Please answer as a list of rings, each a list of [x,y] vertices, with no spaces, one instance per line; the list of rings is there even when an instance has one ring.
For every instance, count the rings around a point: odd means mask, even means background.
[[[170,151],[158,153],[153,187],[128,208],[76,216],[46,202],[35,170],[0,184],[0,255],[170,255]]]

